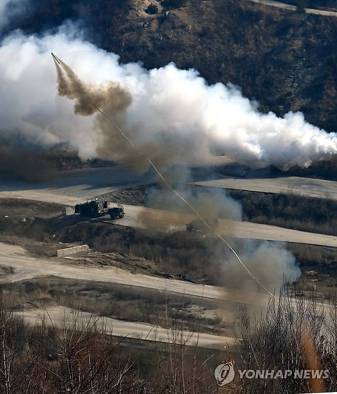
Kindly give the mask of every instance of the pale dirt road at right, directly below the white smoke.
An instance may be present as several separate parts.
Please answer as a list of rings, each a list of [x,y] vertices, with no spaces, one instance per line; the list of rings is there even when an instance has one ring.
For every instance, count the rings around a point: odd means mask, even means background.
[[[233,178],[193,182],[211,188],[247,190],[264,193],[295,193],[306,197],[337,199],[337,182],[324,179],[300,178],[296,176],[280,178]]]

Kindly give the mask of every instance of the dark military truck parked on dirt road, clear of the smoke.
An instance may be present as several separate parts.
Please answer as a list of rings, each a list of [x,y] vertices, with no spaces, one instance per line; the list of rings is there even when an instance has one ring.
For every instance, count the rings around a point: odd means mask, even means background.
[[[124,208],[117,202],[117,207],[110,208],[109,201],[98,201],[96,198],[83,204],[75,205],[75,214],[87,218],[99,218],[100,216],[110,215],[111,219],[124,217]]]

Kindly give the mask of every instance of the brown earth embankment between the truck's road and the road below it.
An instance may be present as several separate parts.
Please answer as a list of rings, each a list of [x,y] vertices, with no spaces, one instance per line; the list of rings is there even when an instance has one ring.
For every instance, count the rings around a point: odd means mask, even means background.
[[[143,193],[141,188],[139,191],[135,192],[137,196]],[[129,196],[129,192],[125,193]],[[132,191],[130,195],[132,198]],[[63,211],[64,207],[57,204],[0,199],[0,241],[24,245],[37,257],[52,256],[57,249],[68,246],[89,244],[96,254],[75,256],[67,262],[101,268],[116,266],[134,273],[184,281],[213,282],[204,269],[209,264],[207,247],[194,236],[93,222],[78,216],[63,216]],[[199,254],[203,257],[199,258]]]

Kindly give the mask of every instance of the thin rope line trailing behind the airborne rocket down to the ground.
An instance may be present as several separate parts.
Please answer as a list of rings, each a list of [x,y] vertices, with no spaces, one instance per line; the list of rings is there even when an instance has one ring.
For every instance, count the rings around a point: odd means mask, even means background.
[[[90,100],[90,102],[92,103],[92,105],[96,108],[96,110],[104,117],[106,118],[118,131],[119,133],[122,135],[122,137],[127,140],[129,142],[129,144],[135,149],[135,151],[141,155],[146,161],[148,161],[148,163],[151,165],[151,167],[155,170],[155,172],[158,174],[158,176],[160,177],[160,179],[164,182],[164,184],[167,186],[168,189],[170,189],[177,197],[179,197],[187,206],[189,209],[191,209],[196,216],[201,220],[201,222],[213,233],[215,234],[219,239],[221,239],[226,246],[229,248],[229,250],[235,255],[235,257],[237,258],[237,260],[240,262],[240,264],[243,266],[243,268],[245,269],[245,271],[248,273],[248,275],[254,279],[259,286],[261,286],[265,292],[267,292],[273,299],[275,299],[277,301],[277,303],[279,303],[279,300],[277,299],[277,297],[275,296],[275,294],[272,294],[260,281],[258,278],[256,278],[256,276],[254,274],[252,274],[250,272],[250,270],[248,269],[248,267],[244,264],[244,262],[241,260],[240,256],[237,254],[237,252],[234,250],[234,248],[228,243],[228,241],[223,238],[215,229],[213,229],[212,226],[210,226],[205,220],[204,218],[198,213],[198,211],[184,198],[182,197],[172,186],[170,183],[168,183],[166,181],[166,179],[164,178],[164,176],[161,174],[161,172],[157,169],[156,165],[152,162],[151,159],[149,159],[148,156],[146,156],[143,152],[141,152],[133,143],[133,141],[118,127],[118,125],[116,125],[116,123],[108,116],[106,115],[97,105],[96,103],[93,101],[93,99],[88,95],[88,93],[82,88],[81,84],[79,83],[79,81],[77,80],[77,78],[75,78],[75,76],[73,75],[72,72],[70,72],[70,70],[68,69],[68,67],[66,67],[66,64],[59,59],[57,56],[55,56],[54,54],[52,54],[53,59],[54,59],[54,63],[56,68],[59,67],[59,65],[61,65],[62,69],[66,72],[66,74],[69,76],[69,78],[71,78],[75,84],[78,85],[79,90]],[[58,62],[58,64],[56,63],[56,61]]]

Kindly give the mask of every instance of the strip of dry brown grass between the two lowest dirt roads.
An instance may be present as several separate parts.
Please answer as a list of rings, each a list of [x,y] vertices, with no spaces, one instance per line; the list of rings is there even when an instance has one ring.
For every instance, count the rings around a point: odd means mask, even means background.
[[[233,322],[217,315],[222,302],[175,295],[117,283],[46,278],[3,284],[7,298],[20,309],[63,305],[84,312],[122,320],[157,324],[180,329],[229,335]],[[234,306],[233,313],[236,312]]]

